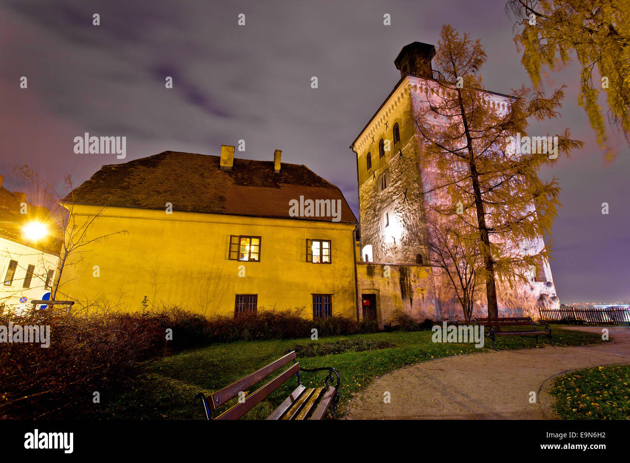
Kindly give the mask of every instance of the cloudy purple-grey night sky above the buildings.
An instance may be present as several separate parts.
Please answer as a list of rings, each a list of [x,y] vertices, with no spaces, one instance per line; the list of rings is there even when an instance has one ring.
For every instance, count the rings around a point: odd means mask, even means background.
[[[62,190],[66,174],[77,186],[103,164],[166,150],[219,155],[221,144],[244,139],[237,157],[271,161],[282,149],[283,161],[340,186],[358,217],[348,146],[398,82],[393,61],[404,45],[437,46],[450,23],[483,43],[487,89],[531,86],[504,7],[503,0],[1,1],[3,186],[34,201],[30,184],[12,178],[16,166],[28,164]],[[100,26],[92,25],[94,13]],[[391,26],[383,25],[385,13]],[[551,268],[563,303],[628,301],[630,149],[610,130],[618,154],[604,162],[576,102],[579,70],[572,64],[549,74],[547,90],[568,86],[563,117],[529,132],[569,127],[585,142],[541,172],[563,189]],[[28,89],[20,89],[21,76]],[[74,137],[84,132],[126,136],[126,159],[74,154]]]

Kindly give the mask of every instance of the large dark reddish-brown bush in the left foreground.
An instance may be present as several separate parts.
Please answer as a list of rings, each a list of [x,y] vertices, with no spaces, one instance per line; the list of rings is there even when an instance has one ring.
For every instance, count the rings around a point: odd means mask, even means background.
[[[0,345],[0,418],[78,418],[137,374],[140,362],[166,353],[163,329],[128,314],[78,316],[47,309],[0,316],[0,325],[49,326],[50,346]]]

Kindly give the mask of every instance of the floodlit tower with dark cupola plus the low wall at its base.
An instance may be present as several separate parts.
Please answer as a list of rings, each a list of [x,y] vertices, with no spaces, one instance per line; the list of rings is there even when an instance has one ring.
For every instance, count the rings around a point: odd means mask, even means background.
[[[428,204],[440,201],[435,193],[423,193],[438,183],[440,172],[421,162],[420,137],[415,125],[420,108],[427,105],[430,93],[427,88],[436,84],[431,67],[433,55],[435,48],[426,43],[410,43],[401,50],[394,61],[401,79],[350,146],[357,156],[360,259],[373,263],[372,270],[367,270],[370,265],[364,265],[366,270],[358,272],[363,275],[359,278],[362,286],[358,292],[359,304],[371,306],[374,297],[369,294],[381,294],[381,301],[376,303],[381,320],[398,307],[415,319],[425,316],[453,319],[462,312],[450,290],[451,283],[437,269],[426,266],[427,251],[414,246],[411,236],[418,231],[417,224],[426,214]],[[510,100],[509,96],[496,93],[488,93],[488,98],[497,108],[504,109]],[[541,238],[518,243],[518,247],[522,253],[536,254],[544,248],[544,241]],[[387,266],[391,270],[392,265],[400,270],[406,268],[396,274],[408,276],[399,277],[392,284],[391,276],[382,276],[387,273],[382,268]],[[558,308],[549,263],[541,261],[527,275],[527,280],[524,285],[498,283],[500,316],[534,315],[537,307]],[[408,285],[403,283],[407,281]],[[394,294],[391,288],[396,289]],[[479,296],[476,312],[486,313],[485,294]],[[396,302],[386,302],[392,298]]]

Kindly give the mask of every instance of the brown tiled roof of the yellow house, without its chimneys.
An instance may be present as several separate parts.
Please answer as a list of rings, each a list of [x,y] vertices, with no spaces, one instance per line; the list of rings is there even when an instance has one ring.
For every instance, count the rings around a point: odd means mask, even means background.
[[[356,223],[343,194],[303,165],[234,159],[219,169],[219,156],[164,151],[124,164],[103,166],[74,190],[74,203],[164,209],[205,214],[249,215],[330,221],[330,217],[290,217],[289,201],[341,200],[341,222]],[[71,202],[71,195],[64,201]]]

